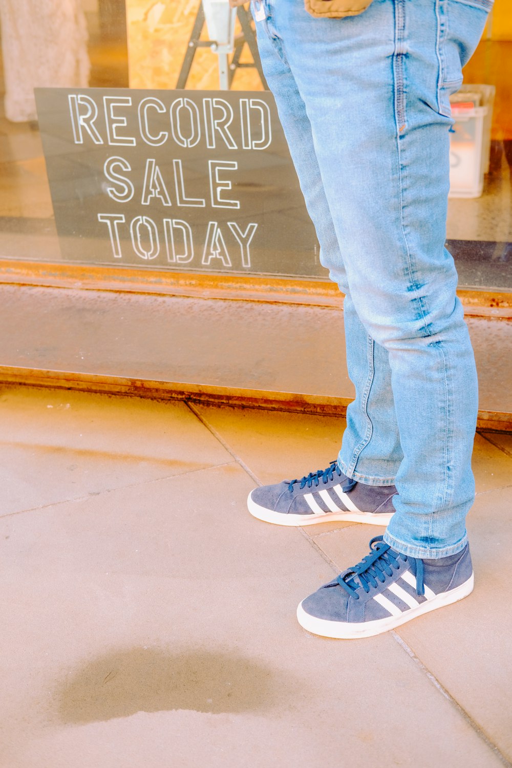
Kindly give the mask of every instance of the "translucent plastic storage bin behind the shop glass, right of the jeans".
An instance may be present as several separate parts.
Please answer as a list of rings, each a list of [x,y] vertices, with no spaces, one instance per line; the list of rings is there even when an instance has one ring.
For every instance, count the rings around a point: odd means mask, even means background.
[[[451,97],[448,197],[480,197],[489,170],[494,85],[464,84]]]

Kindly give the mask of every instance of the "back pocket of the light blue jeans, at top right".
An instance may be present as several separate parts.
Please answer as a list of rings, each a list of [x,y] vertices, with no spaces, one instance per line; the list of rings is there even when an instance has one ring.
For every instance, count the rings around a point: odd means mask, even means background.
[[[461,88],[462,68],[484,31],[493,0],[436,0],[438,15],[438,104],[451,117],[450,96]]]

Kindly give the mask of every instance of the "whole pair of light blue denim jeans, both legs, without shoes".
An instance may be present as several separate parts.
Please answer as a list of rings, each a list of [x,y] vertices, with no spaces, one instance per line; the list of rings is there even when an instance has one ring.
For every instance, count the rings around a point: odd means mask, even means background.
[[[444,247],[449,96],[491,0],[373,0],[342,19],[312,18],[303,0],[261,5],[263,70],[320,259],[345,293],[356,396],[339,466],[395,483],[389,545],[455,554],[474,500],[477,376]],[[322,343],[337,353],[334,336]]]

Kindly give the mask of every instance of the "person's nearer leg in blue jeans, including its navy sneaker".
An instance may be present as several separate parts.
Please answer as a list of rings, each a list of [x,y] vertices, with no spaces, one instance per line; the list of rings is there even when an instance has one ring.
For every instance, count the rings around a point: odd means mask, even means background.
[[[357,317],[374,360],[376,350],[385,350],[391,369],[404,453],[397,513],[360,563],[297,609],[299,623],[316,634],[365,637],[473,588],[464,521],[474,498],[477,383],[444,237],[449,94],[461,82],[461,65],[491,2],[374,0],[361,16],[342,21],[313,20],[302,0],[265,0],[265,8],[259,22],[264,67],[292,142],[287,107],[293,88],[269,65],[277,61],[270,48],[286,62],[309,118],[315,185],[325,191],[340,245],[324,247],[323,263],[342,290],[348,287],[345,312],[348,328],[355,327],[349,343],[358,340],[361,360]],[[292,152],[299,177],[300,148]],[[306,164],[306,200],[307,170]],[[308,203],[318,227],[314,195]],[[371,394],[375,383],[372,367],[368,362],[366,386],[359,379],[359,416],[362,393]],[[357,447],[351,446],[353,472],[365,455],[365,448],[357,455]],[[348,462],[345,469],[351,472]]]

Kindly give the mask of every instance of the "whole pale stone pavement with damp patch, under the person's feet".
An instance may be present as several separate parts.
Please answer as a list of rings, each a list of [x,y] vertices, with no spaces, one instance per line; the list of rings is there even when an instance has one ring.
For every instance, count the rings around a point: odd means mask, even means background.
[[[1,768],[487,768],[512,760],[512,436],[477,435],[475,590],[363,641],[296,604],[368,525],[252,518],[341,419],[4,387]]]

